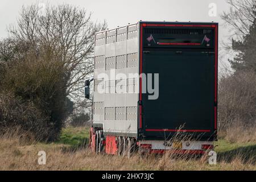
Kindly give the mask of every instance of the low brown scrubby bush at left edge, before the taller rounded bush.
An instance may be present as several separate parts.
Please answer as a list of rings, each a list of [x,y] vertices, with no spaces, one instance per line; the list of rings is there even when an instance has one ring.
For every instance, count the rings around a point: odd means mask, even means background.
[[[0,133],[8,133],[10,129],[31,133],[35,140],[46,139],[52,135],[51,126],[47,126],[48,118],[43,115],[32,102],[17,100],[11,93],[0,94]]]

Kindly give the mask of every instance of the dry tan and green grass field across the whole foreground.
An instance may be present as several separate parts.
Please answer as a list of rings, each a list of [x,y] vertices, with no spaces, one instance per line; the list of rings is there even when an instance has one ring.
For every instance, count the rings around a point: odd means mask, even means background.
[[[55,143],[22,143],[18,138],[0,138],[1,170],[256,170],[256,143],[231,143],[220,139],[216,144],[217,165],[201,159],[134,155],[96,155],[86,148],[89,129],[63,129]],[[38,164],[38,152],[46,151],[46,165]]]

